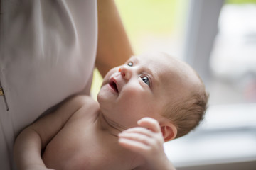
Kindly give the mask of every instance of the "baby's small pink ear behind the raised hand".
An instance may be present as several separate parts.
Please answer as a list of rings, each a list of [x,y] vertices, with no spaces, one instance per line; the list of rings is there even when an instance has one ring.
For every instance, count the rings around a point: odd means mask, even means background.
[[[169,140],[174,140],[174,138],[177,135],[177,128],[173,123],[165,122],[160,123],[161,126],[161,132],[164,137],[164,142],[167,142]]]

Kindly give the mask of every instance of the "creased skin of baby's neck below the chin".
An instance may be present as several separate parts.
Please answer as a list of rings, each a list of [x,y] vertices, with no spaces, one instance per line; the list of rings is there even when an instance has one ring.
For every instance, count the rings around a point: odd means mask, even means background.
[[[105,116],[101,111],[98,117],[99,128],[103,131],[109,132],[110,135],[118,137],[118,134],[123,130],[126,130],[124,126],[120,125],[119,123],[110,120]]]

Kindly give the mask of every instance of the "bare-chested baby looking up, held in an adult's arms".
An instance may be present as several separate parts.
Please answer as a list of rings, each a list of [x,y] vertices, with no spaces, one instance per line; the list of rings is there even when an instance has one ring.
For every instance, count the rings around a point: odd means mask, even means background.
[[[163,143],[193,130],[207,100],[188,64],[163,53],[131,57],[107,73],[98,103],[74,96],[25,128],[14,159],[18,169],[175,169]]]

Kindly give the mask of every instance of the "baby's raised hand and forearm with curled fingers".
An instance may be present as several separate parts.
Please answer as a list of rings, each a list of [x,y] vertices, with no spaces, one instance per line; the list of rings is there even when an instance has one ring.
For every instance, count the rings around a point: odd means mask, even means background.
[[[119,134],[119,145],[141,154],[151,169],[175,170],[164,153],[164,137],[159,123],[153,118],[142,118],[139,127]]]

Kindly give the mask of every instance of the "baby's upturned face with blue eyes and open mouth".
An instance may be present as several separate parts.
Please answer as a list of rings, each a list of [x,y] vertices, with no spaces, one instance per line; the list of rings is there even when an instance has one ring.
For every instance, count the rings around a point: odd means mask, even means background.
[[[107,73],[97,100],[102,113],[126,128],[143,117],[160,122],[164,106],[185,97],[188,84],[197,81],[191,72],[187,64],[163,54],[131,57]]]

